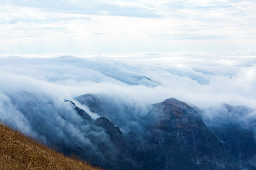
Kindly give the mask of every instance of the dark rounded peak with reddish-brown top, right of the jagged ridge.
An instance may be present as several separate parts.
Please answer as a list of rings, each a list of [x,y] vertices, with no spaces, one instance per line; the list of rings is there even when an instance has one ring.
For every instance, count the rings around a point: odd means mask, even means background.
[[[140,144],[137,154],[141,155],[138,157],[141,169],[229,169],[231,160],[227,159],[227,150],[195,110],[174,98],[153,108],[143,120],[151,119],[151,124],[145,127],[148,133],[144,140],[134,142],[126,137],[133,147]],[[153,121],[152,117],[155,117]]]

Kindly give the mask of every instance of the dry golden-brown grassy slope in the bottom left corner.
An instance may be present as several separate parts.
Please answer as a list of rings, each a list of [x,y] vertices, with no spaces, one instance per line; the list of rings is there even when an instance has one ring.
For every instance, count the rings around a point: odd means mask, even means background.
[[[102,170],[39,144],[0,122],[0,170]]]

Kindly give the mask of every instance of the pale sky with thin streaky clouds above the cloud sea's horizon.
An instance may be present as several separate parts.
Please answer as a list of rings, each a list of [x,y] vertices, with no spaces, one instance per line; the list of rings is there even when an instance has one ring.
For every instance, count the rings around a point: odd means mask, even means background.
[[[255,0],[0,0],[0,55],[256,52]]]

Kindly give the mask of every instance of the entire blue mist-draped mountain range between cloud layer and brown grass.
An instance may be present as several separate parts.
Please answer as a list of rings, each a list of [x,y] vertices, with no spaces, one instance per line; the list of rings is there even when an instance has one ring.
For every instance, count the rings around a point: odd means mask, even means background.
[[[145,104],[103,94],[58,105],[27,92],[9,98],[47,146],[108,170],[256,170],[255,110],[246,106],[199,109],[174,98]]]

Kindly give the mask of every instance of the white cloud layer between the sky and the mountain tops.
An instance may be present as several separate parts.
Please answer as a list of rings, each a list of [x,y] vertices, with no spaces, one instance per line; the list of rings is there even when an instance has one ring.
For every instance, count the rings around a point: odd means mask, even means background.
[[[255,63],[254,55],[232,53],[7,57],[0,59],[0,89],[49,93],[62,100],[107,93],[147,103],[175,97],[202,108],[222,103],[255,107]]]

